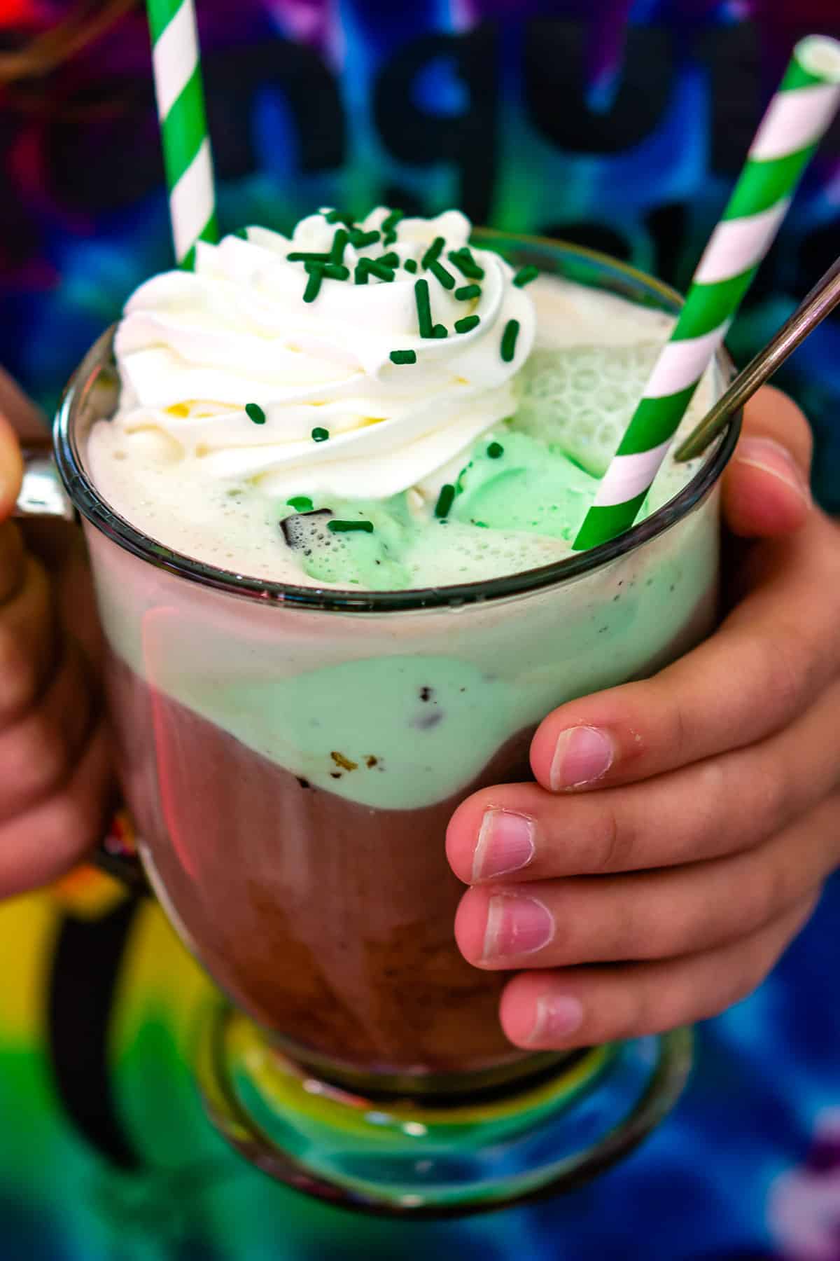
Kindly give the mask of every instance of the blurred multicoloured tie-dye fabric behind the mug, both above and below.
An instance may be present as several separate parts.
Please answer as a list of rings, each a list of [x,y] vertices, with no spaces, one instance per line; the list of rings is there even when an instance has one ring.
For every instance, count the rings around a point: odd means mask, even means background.
[[[10,50],[76,10],[0,3]],[[96,9],[96,5],[91,5]],[[793,40],[837,0],[198,0],[225,228],[460,203],[684,285]],[[0,362],[50,407],[126,294],[169,264],[142,13],[0,88]],[[834,127],[732,333],[746,357],[840,243]],[[840,324],[786,383],[840,508]],[[834,474],[832,474],[834,469]],[[565,1199],[398,1226],[307,1202],[205,1125],[205,982],[105,878],[0,908],[0,1261],[840,1258],[840,886],[747,1002],[701,1031],[676,1115]]]

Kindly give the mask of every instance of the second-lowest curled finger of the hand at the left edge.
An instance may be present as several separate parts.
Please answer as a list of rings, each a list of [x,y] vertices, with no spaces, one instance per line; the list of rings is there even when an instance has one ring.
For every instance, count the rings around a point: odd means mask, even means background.
[[[93,719],[92,682],[81,648],[68,642],[39,704],[0,729],[0,822],[52,796],[69,777]]]

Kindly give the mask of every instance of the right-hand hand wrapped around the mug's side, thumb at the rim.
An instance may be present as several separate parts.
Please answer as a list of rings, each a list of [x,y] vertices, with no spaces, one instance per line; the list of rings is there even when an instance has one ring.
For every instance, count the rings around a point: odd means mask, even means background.
[[[531,744],[538,783],[452,818],[450,863],[474,885],[461,951],[526,970],[501,1000],[518,1045],[723,1010],[840,861],[840,530],[810,504],[810,454],[798,409],[763,390],[724,485],[730,530],[761,541],[728,542],[723,625],[654,678],[555,710]]]

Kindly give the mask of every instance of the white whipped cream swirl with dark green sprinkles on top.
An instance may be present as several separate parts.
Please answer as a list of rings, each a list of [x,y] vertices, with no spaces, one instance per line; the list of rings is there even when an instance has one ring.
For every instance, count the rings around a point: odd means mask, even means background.
[[[387,216],[379,207],[358,227],[380,233]],[[340,228],[325,213],[301,219],[291,238],[251,227],[247,237],[199,242],[194,271],[141,285],[116,335],[122,392],[113,424],[128,439],[142,435],[146,455],[199,460],[209,478],[258,479],[272,493],[387,498],[417,483],[429,493],[436,470],[514,412],[514,377],[534,343],[533,301],[490,251],[472,250],[480,280],[461,274],[448,255],[467,245],[470,222],[457,211],[403,218],[390,243],[348,243],[349,279],[324,279],[305,301],[305,262],[287,256],[329,252]],[[437,237],[453,288],[422,266]],[[398,259],[393,280],[369,274],[354,282],[360,259],[385,252]],[[418,279],[447,337],[421,335]],[[455,296],[474,282],[480,295]],[[456,332],[468,315],[479,323]],[[505,362],[510,320],[519,332]],[[413,351],[416,362],[394,363],[392,351]],[[247,404],[258,410],[249,415]],[[312,430],[329,439],[314,440]]]

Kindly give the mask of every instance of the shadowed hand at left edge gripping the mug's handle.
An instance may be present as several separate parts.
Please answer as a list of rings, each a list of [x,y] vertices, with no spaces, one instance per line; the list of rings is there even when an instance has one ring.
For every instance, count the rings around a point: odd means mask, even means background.
[[[15,422],[26,405],[0,381]],[[21,463],[0,416],[0,899],[53,879],[103,832],[111,767],[92,661],[96,630],[76,528],[10,521]]]

